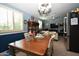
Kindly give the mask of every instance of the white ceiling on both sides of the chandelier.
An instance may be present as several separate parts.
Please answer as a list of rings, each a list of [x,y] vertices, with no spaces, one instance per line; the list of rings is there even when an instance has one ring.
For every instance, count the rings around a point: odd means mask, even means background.
[[[8,6],[17,8],[27,14],[33,15],[39,18],[38,13],[38,3],[5,3]],[[78,3],[52,3],[52,11],[49,14],[50,16],[61,17],[64,16],[67,12],[70,12],[72,9],[79,7]]]

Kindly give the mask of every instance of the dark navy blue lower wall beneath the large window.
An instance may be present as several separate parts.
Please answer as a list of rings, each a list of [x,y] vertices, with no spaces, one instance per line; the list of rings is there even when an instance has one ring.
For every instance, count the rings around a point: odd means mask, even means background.
[[[0,52],[8,49],[8,44],[24,38],[24,33],[0,35]]]

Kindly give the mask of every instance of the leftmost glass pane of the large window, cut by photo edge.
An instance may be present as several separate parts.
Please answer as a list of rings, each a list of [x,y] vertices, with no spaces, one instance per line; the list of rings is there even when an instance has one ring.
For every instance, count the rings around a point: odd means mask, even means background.
[[[7,9],[0,7],[0,30],[7,30]]]

